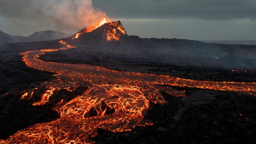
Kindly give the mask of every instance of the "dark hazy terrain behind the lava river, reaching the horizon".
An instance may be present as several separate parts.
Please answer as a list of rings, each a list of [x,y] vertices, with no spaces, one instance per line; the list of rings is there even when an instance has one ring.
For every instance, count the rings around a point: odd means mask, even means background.
[[[97,29],[96,29],[97,30]],[[119,71],[156,73],[200,81],[256,81],[256,46],[209,44],[184,39],[141,39],[123,35],[108,42],[101,31],[65,39],[75,49],[50,52],[39,59],[105,66]],[[225,51],[225,52],[224,52]],[[217,57],[218,56],[218,57]],[[247,69],[242,71],[241,69]],[[231,69],[240,69],[233,72]]]

